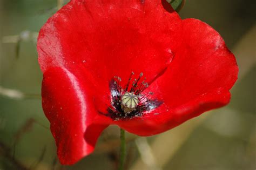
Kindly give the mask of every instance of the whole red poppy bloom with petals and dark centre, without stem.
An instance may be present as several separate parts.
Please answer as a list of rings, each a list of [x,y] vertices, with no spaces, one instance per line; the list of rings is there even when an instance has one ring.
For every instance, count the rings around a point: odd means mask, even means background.
[[[160,0],[72,0],[37,50],[43,110],[69,165],[111,124],[148,136],[226,105],[238,74],[217,31]]]

